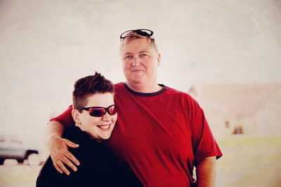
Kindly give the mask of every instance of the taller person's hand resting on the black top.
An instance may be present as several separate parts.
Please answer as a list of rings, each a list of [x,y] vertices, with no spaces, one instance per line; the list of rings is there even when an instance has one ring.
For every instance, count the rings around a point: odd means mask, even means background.
[[[77,148],[78,144],[74,144],[68,139],[63,139],[60,137],[52,137],[49,139],[48,148],[50,150],[50,155],[53,160],[53,165],[55,169],[61,174],[69,175],[70,171],[67,170],[65,164],[68,165],[74,172],[77,171],[77,167],[73,164],[80,165],[79,161],[67,150],[68,147]]]

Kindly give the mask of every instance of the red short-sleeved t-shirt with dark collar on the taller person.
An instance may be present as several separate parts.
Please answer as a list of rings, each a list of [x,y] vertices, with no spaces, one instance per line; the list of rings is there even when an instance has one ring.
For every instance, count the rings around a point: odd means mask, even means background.
[[[202,109],[184,92],[162,85],[140,93],[117,83],[115,103],[117,125],[106,144],[145,186],[190,186],[194,165],[222,155]],[[71,109],[51,120],[73,125]]]

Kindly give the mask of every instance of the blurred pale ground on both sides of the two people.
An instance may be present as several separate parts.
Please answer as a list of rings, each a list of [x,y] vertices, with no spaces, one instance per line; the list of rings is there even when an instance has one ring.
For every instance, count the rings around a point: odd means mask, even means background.
[[[281,137],[233,135],[218,141],[223,157],[217,164],[217,187],[280,187]],[[1,187],[35,186],[41,166],[0,165]]]

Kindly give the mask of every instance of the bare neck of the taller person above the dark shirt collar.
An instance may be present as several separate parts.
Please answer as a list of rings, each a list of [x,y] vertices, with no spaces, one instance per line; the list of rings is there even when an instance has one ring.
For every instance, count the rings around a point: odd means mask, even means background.
[[[141,92],[141,93],[151,93],[151,92],[157,92],[159,90],[162,89],[161,86],[157,85],[157,83],[148,85],[146,84],[142,84],[142,83],[129,83],[129,81],[126,82],[126,85],[128,85],[128,87],[135,91],[135,92]]]

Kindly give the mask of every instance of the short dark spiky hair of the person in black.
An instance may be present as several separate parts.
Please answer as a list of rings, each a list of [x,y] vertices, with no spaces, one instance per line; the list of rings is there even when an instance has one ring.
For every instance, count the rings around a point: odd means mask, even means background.
[[[87,104],[89,95],[96,93],[114,93],[114,85],[111,81],[96,72],[93,76],[85,76],[74,83],[74,91],[72,93],[73,108],[83,108]]]

